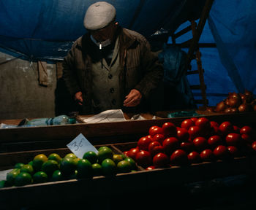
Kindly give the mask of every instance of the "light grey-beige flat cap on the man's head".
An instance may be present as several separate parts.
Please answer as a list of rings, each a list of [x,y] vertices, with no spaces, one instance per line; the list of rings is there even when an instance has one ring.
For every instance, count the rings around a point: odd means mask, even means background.
[[[112,4],[105,1],[98,1],[87,9],[84,16],[83,25],[86,29],[95,31],[105,26],[114,20],[116,17],[116,8]]]

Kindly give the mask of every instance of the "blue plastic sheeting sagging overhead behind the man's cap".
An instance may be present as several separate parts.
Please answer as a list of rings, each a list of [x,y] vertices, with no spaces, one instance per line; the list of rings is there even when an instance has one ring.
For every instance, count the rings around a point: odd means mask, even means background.
[[[205,0],[112,0],[116,20],[144,36],[160,28],[175,31],[188,18],[198,18]],[[59,60],[82,36],[86,9],[96,1],[0,1],[0,47],[29,60]],[[192,7],[194,5],[194,7]],[[148,15],[150,14],[150,15]]]

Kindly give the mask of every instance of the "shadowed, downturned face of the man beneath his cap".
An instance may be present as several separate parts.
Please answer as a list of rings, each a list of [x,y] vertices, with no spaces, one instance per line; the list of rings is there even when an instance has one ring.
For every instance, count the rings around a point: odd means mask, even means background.
[[[97,42],[104,42],[107,39],[110,39],[110,41],[112,42],[115,30],[115,23],[111,22],[105,28],[99,29],[97,31],[91,31],[91,36],[93,36]]]

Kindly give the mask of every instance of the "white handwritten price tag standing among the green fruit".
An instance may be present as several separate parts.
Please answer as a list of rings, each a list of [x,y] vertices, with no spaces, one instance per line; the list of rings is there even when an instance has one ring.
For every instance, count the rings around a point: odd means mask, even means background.
[[[74,140],[72,140],[67,147],[73,152],[78,158],[83,158],[83,154],[89,151],[93,151],[98,154],[98,150],[80,133]]]

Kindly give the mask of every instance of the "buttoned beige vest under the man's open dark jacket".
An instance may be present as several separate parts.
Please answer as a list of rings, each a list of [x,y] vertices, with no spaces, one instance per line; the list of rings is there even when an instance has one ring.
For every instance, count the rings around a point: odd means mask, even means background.
[[[119,74],[121,71],[119,62],[119,42],[113,50],[110,66],[102,59],[102,62],[92,63],[92,105],[94,112],[103,112],[108,109],[120,109],[123,101],[120,96]]]

